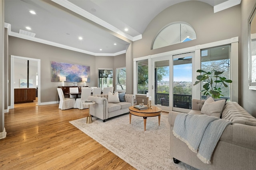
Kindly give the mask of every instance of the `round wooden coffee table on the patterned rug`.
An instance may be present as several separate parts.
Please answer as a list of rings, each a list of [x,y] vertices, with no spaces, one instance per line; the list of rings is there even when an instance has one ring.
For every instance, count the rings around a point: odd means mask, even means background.
[[[160,126],[160,119],[161,119],[161,111],[159,107],[152,106],[153,109],[146,109],[146,110],[139,110],[134,108],[134,106],[129,107],[129,117],[130,117],[130,124],[132,115],[143,117],[144,119],[144,131],[146,130],[146,122],[147,117],[156,117],[158,116],[158,125]]]

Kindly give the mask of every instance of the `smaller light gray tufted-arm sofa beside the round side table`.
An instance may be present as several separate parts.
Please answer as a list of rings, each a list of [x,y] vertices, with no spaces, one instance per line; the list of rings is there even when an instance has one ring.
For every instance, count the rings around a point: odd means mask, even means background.
[[[125,94],[125,101],[119,103],[109,103],[108,94],[89,96],[88,100],[95,102],[90,105],[90,115],[105,122],[108,118],[129,113],[129,107],[134,104],[134,95]]]

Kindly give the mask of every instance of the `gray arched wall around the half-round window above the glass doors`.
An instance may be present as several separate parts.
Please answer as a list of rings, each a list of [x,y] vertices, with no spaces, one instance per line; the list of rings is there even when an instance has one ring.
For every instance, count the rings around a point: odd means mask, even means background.
[[[133,57],[142,57],[240,36],[240,5],[214,13],[213,7],[200,1],[181,2],[160,12],[148,24],[142,40],[134,42]],[[173,22],[186,22],[196,31],[196,40],[152,49],[154,37]]]

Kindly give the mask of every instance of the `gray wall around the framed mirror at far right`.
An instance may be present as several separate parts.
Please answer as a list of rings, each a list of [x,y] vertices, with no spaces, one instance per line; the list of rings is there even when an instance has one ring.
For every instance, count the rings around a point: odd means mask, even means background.
[[[241,58],[241,64],[239,70],[241,71],[240,73],[240,89],[241,93],[239,95],[241,105],[251,113],[254,117],[256,117],[256,91],[255,90],[249,90],[249,71],[248,71],[248,19],[249,16],[253,10],[253,8],[256,6],[256,0],[242,0],[241,3],[241,35],[242,35],[242,55],[240,56]]]

